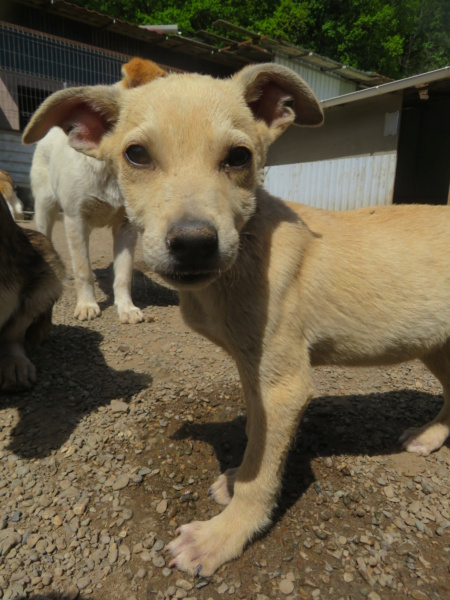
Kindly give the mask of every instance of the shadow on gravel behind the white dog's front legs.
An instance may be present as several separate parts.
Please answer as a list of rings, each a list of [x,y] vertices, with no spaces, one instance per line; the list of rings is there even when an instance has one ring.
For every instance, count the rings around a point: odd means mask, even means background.
[[[174,290],[156,283],[146,274],[145,263],[139,262],[133,270],[131,283],[131,297],[139,308],[146,306],[178,306],[178,295]],[[97,283],[102,292],[108,297],[104,302],[99,302],[102,310],[114,304],[113,281],[114,267],[111,263],[103,269],[94,269]]]

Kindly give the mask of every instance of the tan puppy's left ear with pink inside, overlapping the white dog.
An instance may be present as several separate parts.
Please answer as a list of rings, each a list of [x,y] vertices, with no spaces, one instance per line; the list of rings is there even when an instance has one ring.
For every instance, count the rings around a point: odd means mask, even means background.
[[[22,142],[37,142],[57,126],[65,131],[75,150],[97,157],[103,136],[119,117],[120,96],[115,86],[75,87],[55,92],[34,113]]]

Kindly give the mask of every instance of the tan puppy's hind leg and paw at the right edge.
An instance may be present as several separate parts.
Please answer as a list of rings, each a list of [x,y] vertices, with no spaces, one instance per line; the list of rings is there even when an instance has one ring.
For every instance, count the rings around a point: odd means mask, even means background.
[[[400,442],[408,452],[428,456],[434,450],[439,450],[450,435],[450,342],[441,350],[422,358],[422,361],[441,382],[444,405],[430,423],[404,431]]]

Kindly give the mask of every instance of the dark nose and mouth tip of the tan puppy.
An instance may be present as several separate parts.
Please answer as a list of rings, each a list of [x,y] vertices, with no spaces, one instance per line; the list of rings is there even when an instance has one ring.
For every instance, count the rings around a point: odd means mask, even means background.
[[[168,230],[165,242],[173,279],[193,283],[210,278],[219,269],[219,236],[212,223],[178,221]]]

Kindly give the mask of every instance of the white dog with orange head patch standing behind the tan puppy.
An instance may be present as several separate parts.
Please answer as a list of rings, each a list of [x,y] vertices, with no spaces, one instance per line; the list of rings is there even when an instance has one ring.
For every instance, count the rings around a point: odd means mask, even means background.
[[[152,61],[133,58],[122,67],[122,75],[123,80],[115,86],[130,88],[166,73]],[[64,211],[77,293],[74,316],[89,321],[100,315],[89,260],[89,236],[95,227],[110,226],[114,239],[114,302],[120,321],[143,321],[144,315],[131,299],[137,232],[125,215],[110,165],[71,148],[65,133],[55,127],[36,146],[31,188],[36,226],[41,233],[51,238],[58,212],[61,208]]]

